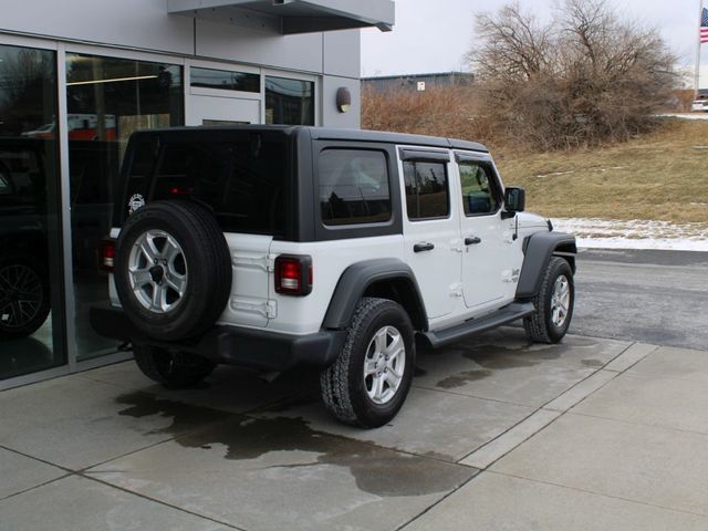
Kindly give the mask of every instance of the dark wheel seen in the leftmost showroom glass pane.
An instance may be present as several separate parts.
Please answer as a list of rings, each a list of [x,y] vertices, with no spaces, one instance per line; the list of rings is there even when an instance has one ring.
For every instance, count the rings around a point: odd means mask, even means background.
[[[0,258],[0,339],[32,335],[44,324],[50,310],[46,267],[24,253]]]

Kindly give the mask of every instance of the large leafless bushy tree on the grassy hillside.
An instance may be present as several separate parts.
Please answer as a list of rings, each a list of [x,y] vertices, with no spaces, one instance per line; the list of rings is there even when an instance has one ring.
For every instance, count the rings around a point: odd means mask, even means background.
[[[489,119],[545,149],[626,139],[670,97],[675,56],[604,0],[565,0],[540,24],[518,4],[476,23],[469,53]]]

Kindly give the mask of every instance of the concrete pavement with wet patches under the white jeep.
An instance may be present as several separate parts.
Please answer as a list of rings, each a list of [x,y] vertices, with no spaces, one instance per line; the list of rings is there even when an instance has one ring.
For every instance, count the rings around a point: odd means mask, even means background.
[[[708,529],[707,382],[702,352],[503,329],[421,354],[365,431],[312,374],[113,365],[0,394],[0,528]]]

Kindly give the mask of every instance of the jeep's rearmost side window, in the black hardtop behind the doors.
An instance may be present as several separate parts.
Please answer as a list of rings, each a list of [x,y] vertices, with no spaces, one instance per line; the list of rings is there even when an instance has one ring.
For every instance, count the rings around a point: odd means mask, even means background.
[[[383,152],[325,149],[320,154],[320,212],[325,225],[391,219],[388,166]]]

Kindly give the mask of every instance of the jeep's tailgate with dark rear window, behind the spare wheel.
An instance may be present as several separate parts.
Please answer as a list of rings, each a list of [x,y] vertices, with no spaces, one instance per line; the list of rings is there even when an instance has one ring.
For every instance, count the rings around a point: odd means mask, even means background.
[[[162,140],[154,178],[133,164],[128,197],[190,199],[208,206],[229,246],[233,274],[219,321],[267,326],[277,312],[269,299],[274,261],[270,247],[285,231],[285,139],[277,133],[235,131],[164,135]]]

